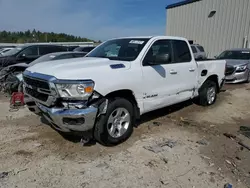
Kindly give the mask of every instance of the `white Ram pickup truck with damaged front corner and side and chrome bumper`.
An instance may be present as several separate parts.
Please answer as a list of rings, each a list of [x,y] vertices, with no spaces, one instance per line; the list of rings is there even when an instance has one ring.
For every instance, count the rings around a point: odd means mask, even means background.
[[[216,101],[226,62],[196,62],[191,52],[180,37],[112,39],[87,57],[28,68],[24,92],[55,129],[116,145],[146,112],[194,98],[204,106]]]

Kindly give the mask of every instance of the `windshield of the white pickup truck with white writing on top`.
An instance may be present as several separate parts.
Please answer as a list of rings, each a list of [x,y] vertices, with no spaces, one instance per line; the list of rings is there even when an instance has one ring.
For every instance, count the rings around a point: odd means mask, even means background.
[[[126,38],[107,41],[93,51],[87,57],[109,58],[112,60],[133,61],[137,58],[142,48],[149,39]]]

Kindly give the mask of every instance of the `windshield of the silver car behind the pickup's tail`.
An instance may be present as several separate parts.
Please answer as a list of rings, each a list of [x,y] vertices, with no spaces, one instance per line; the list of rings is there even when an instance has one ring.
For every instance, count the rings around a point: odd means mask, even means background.
[[[241,59],[250,60],[250,51],[224,51],[218,59]]]

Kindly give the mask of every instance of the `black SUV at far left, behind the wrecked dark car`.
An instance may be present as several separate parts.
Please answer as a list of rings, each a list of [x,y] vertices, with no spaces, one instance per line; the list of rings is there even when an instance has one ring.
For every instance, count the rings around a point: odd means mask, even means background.
[[[62,51],[67,51],[67,48],[58,45],[21,45],[0,57],[0,69],[17,63],[30,63],[42,55]]]

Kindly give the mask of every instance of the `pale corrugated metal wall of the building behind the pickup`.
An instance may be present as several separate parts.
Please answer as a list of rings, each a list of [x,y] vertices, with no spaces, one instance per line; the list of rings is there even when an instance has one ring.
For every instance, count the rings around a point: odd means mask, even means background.
[[[166,10],[166,34],[203,45],[209,57],[242,48],[244,37],[250,45],[250,0],[201,0]]]

